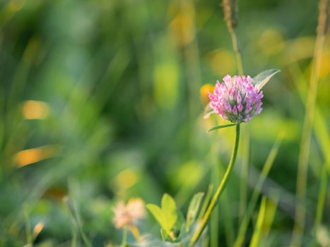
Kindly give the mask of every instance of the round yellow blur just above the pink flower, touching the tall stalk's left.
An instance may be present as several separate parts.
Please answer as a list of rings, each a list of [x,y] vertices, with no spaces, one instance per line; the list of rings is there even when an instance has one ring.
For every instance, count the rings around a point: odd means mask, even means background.
[[[225,49],[213,51],[210,56],[212,71],[217,76],[235,73],[236,61],[232,53]]]

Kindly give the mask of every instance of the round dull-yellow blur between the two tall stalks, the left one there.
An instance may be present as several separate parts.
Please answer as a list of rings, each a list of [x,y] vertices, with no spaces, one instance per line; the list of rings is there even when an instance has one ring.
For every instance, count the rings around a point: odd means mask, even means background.
[[[278,54],[285,47],[285,41],[281,32],[275,28],[265,30],[259,38],[259,47],[266,56]]]

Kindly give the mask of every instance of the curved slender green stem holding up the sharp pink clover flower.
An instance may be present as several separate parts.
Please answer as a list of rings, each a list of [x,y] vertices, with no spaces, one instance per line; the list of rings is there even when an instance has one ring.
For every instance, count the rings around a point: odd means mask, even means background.
[[[220,197],[221,193],[223,193],[223,191],[225,190],[225,186],[228,183],[228,179],[231,174],[232,167],[234,167],[234,164],[235,164],[239,140],[240,140],[240,124],[237,124],[236,133],[235,133],[235,144],[234,144],[234,148],[232,150],[232,157],[230,158],[229,165],[227,167],[227,170],[225,171],[225,175],[223,176],[223,179],[221,180],[221,182],[216,190],[216,193],[213,195],[210,205],[208,205],[208,209],[206,210],[206,213],[201,221],[201,224],[199,225],[199,228],[195,231],[194,235],[191,238],[189,246],[194,246],[196,241],[199,239],[199,236],[201,236],[201,233],[203,232],[204,228],[206,227],[206,223],[208,222],[211,212],[212,212],[213,208],[216,206],[218,198]]]

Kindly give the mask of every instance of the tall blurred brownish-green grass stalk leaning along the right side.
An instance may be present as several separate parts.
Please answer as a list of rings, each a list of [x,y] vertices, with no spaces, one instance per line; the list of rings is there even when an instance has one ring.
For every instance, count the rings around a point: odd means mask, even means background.
[[[314,59],[312,61],[312,71],[310,76],[310,89],[308,90],[307,95],[306,112],[302,128],[302,139],[300,143],[300,153],[297,167],[297,199],[300,201],[300,203],[297,204],[295,210],[295,225],[293,227],[293,239],[291,241],[291,246],[301,246],[302,234],[305,229],[307,164],[310,157],[312,125],[314,119],[315,103],[317,99],[317,84],[319,81],[319,71],[321,67],[322,51],[326,32],[327,10],[328,0],[320,0],[317,40],[314,47]]]

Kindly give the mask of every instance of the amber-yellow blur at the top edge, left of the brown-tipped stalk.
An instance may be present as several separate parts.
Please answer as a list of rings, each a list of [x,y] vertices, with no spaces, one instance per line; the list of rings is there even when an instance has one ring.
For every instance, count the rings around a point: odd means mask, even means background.
[[[191,4],[175,16],[169,28],[178,45],[189,44],[194,39],[194,8]]]

